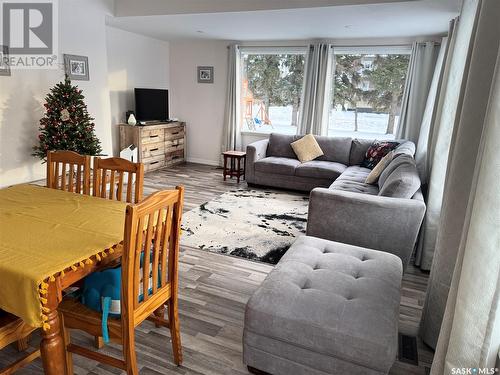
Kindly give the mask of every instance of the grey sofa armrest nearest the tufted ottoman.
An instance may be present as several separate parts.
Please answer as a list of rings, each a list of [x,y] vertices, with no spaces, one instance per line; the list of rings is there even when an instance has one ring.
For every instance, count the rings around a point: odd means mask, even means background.
[[[408,265],[425,203],[316,188],[309,200],[307,235],[382,250],[399,256]]]

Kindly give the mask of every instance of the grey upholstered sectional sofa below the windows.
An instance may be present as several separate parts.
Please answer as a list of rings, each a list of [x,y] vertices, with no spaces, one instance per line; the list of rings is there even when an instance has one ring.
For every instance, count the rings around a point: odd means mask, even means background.
[[[247,146],[246,179],[311,191],[307,235],[382,250],[406,268],[425,213],[412,142],[400,141],[375,185],[360,166],[372,140],[315,137],[324,155],[301,163],[290,143],[301,136],[273,133]]]

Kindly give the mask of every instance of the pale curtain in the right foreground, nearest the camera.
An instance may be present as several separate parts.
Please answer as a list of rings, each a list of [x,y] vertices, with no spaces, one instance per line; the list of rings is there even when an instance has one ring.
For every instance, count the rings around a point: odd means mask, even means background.
[[[484,2],[493,1],[490,10],[496,7],[498,21],[498,0]],[[496,32],[500,35],[499,27]],[[500,347],[499,69],[500,54],[432,375],[494,368]]]

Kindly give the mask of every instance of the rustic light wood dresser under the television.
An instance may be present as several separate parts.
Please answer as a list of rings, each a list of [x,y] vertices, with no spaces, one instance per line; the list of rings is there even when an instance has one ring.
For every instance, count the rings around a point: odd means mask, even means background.
[[[156,122],[146,126],[119,124],[120,150],[134,144],[144,171],[169,167],[186,160],[186,123]]]

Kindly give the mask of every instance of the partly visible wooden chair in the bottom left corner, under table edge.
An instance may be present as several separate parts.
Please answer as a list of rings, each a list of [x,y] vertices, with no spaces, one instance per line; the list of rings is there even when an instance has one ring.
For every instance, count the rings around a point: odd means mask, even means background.
[[[28,337],[36,328],[24,323],[20,318],[0,310],[0,350],[17,342],[19,351],[28,349]],[[10,375],[34,359],[40,357],[40,350],[27,353],[11,365],[0,368],[0,375]]]

